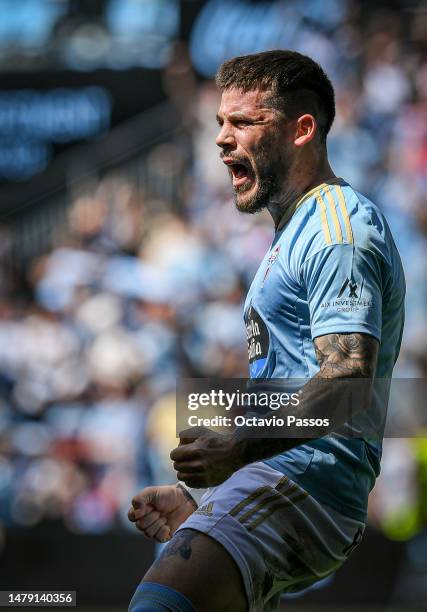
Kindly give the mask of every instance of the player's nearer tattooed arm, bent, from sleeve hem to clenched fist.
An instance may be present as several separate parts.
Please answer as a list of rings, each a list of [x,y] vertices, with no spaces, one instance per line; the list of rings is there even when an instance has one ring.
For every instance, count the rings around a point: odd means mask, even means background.
[[[330,416],[330,425],[317,435],[326,435],[342,425],[348,417],[342,398],[346,385],[354,379],[365,379],[364,391],[370,390],[378,358],[378,341],[368,334],[327,334],[314,340],[319,372],[300,390],[296,408],[274,412],[276,418],[316,418]],[[344,402],[345,404],[345,402]],[[290,450],[311,438],[281,438],[271,428],[250,437],[248,430],[239,428],[232,436],[208,432],[191,444],[179,446],[171,453],[178,478],[192,487],[215,486],[226,480],[240,467]],[[314,435],[316,435],[314,434]],[[269,437],[268,437],[269,436]]]

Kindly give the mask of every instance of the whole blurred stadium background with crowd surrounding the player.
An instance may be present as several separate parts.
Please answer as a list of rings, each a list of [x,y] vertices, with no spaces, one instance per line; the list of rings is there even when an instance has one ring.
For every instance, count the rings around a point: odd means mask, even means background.
[[[277,47],[333,80],[332,166],[383,208],[407,274],[395,373],[427,375],[427,2],[0,0],[1,589],[125,610],[150,564],[129,501],[174,479],[176,377],[246,375],[272,236],[234,210],[211,79]],[[427,609],[426,439],[386,440],[369,516],[284,609]]]

